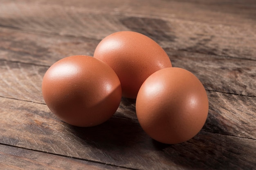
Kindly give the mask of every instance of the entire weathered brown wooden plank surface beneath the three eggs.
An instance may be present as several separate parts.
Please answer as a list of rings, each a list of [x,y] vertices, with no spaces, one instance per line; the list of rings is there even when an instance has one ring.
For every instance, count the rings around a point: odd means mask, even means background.
[[[148,35],[206,88],[209,116],[193,139],[150,139],[132,99],[90,128],[45,105],[49,66],[124,30]],[[256,170],[256,1],[0,0],[0,169]]]

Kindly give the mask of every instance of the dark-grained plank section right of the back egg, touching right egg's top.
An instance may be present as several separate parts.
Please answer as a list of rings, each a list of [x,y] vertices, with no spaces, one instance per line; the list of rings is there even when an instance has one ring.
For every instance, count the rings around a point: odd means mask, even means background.
[[[195,74],[209,91],[256,97],[256,61],[166,50],[174,67]]]

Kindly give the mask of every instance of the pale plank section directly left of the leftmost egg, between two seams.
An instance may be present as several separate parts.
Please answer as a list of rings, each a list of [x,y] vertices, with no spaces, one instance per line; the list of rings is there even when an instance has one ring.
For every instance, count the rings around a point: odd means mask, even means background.
[[[0,61],[0,96],[44,103],[41,84],[47,68]]]

